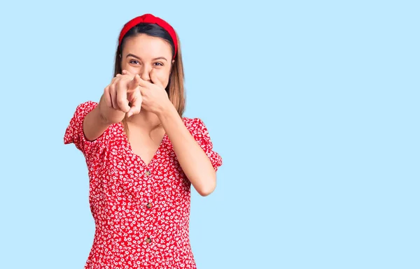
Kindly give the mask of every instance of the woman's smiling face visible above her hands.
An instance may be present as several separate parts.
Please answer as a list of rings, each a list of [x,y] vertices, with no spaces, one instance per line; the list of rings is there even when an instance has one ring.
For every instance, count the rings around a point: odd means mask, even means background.
[[[139,34],[125,40],[121,68],[151,82],[151,72],[166,88],[174,63],[171,45],[162,38]]]

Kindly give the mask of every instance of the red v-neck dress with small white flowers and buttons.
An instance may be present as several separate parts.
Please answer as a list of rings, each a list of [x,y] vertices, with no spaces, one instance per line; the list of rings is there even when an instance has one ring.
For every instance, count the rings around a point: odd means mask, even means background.
[[[89,202],[95,224],[85,269],[196,268],[190,247],[191,184],[164,136],[146,163],[132,152],[123,124],[86,140],[83,119],[97,103],[76,108],[64,134],[83,153],[89,175]],[[200,118],[183,122],[211,160],[222,165]]]

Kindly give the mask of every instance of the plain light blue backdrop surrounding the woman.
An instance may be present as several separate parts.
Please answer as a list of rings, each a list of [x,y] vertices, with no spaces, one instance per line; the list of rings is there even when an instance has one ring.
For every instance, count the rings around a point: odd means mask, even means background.
[[[223,157],[214,194],[193,191],[198,268],[420,268],[419,1],[92,2],[0,4],[0,268],[83,268],[64,131],[143,13],[178,31],[186,116]]]

